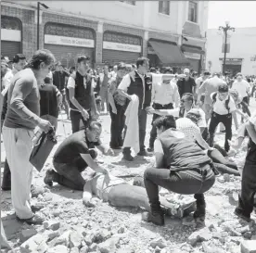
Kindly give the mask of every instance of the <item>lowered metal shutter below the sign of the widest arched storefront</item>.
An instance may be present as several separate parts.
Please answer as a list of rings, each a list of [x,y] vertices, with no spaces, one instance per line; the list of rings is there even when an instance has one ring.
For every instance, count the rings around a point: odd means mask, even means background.
[[[65,67],[70,68],[76,66],[76,59],[78,56],[86,55],[90,57],[91,67],[93,67],[94,59],[94,48],[85,48],[78,46],[69,45],[57,45],[57,44],[45,44],[45,49],[50,50],[57,61],[60,61]]]

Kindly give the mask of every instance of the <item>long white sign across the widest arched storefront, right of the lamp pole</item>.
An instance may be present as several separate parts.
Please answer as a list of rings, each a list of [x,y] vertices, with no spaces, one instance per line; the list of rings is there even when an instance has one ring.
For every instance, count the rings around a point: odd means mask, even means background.
[[[45,44],[59,44],[79,47],[95,47],[95,41],[82,38],[73,38],[66,36],[56,36],[45,34]]]

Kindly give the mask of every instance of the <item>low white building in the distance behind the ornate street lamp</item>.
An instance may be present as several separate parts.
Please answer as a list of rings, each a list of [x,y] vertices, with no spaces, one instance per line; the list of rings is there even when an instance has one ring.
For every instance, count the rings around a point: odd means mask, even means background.
[[[224,34],[217,29],[207,32],[206,68],[221,72],[224,64]],[[225,71],[235,75],[256,75],[256,28],[236,28],[227,35],[228,53]]]

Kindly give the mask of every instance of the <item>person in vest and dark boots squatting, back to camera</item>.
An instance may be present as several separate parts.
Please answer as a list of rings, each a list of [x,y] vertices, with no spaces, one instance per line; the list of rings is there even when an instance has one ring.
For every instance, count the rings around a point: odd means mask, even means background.
[[[176,130],[173,116],[160,117],[154,124],[158,133],[154,144],[156,168],[148,168],[144,173],[150,203],[148,221],[164,224],[158,186],[177,194],[194,194],[197,204],[194,218],[204,218],[204,193],[214,184],[217,174],[211,158],[193,140],[187,139],[185,133]]]

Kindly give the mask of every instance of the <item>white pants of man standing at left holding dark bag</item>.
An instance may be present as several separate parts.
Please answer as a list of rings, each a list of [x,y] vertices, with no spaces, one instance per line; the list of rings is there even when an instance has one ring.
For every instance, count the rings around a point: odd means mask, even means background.
[[[33,216],[30,206],[33,167],[29,161],[32,136],[32,130],[3,127],[6,158],[11,171],[12,205],[19,219]]]

